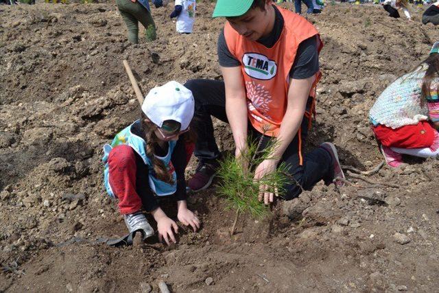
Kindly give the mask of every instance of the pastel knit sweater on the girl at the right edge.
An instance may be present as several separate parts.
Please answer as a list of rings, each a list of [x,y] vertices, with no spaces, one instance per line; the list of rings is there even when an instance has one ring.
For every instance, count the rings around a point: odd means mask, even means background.
[[[375,126],[390,128],[418,124],[419,121],[439,121],[439,78],[431,82],[429,97],[422,95],[425,67],[395,80],[381,93],[369,112]],[[422,99],[426,101],[422,102]]]

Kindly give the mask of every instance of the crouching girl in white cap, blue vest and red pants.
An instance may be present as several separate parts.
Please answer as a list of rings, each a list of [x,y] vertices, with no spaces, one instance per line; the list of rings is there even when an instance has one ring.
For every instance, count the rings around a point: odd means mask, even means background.
[[[142,207],[156,220],[158,239],[165,239],[168,245],[176,243],[178,226],[159,207],[156,196],[172,196],[177,201],[178,220],[191,225],[193,231],[200,228],[200,220],[187,209],[187,152],[181,136],[189,131],[193,111],[191,91],[178,82],[168,82],[145,97],[141,119],[119,132],[111,145],[104,145],[106,190],[119,199],[119,211],[130,233],[141,231],[143,239],[154,231]]]

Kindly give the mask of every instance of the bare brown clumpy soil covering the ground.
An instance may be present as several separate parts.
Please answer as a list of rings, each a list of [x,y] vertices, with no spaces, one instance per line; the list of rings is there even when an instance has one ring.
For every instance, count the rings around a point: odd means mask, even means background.
[[[211,19],[213,5],[199,3],[190,35],[176,34],[172,5],[152,8],[158,39],[139,45],[126,40],[114,3],[0,5],[0,292],[158,292],[162,280],[174,292],[437,291],[434,159],[361,176],[372,184],[319,183],[265,220],[241,216],[233,237],[234,212],[212,187],[189,196],[203,226],[180,226],[177,245],[99,242],[126,233],[101,163],[102,145],[139,115],[121,61],[143,93],[168,80],[221,79],[224,19]],[[309,147],[333,141],[342,163],[361,170],[381,163],[368,109],[438,36],[413,13],[409,22],[379,5],[335,3],[309,16],[325,44]],[[231,150],[228,127],[215,127]],[[165,211],[175,217],[174,204]]]

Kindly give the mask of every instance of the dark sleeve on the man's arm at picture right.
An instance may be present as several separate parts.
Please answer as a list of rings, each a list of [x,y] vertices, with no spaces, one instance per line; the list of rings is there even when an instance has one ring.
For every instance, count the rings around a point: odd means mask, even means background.
[[[311,36],[299,44],[296,58],[294,58],[293,66],[289,71],[289,77],[296,80],[305,80],[317,73],[318,65],[318,49],[317,37]]]

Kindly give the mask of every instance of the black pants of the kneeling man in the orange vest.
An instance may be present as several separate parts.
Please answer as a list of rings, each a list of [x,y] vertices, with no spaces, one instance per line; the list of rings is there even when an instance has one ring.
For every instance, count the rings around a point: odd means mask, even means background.
[[[200,161],[215,160],[219,156],[219,150],[213,137],[213,124],[211,115],[219,120],[228,123],[226,117],[226,93],[224,82],[219,80],[189,80],[185,86],[190,89],[195,99],[195,115],[193,128],[198,134],[195,144],[195,156]],[[307,119],[302,121],[302,141],[307,135]],[[249,123],[249,135],[252,139],[259,139],[262,134],[252,128]],[[263,137],[262,148],[270,141],[270,137]],[[299,137],[298,134],[288,145],[283,153],[281,162],[285,162],[296,182],[305,190],[311,190],[320,180],[330,183],[333,178],[333,162],[331,155],[323,148],[316,148],[303,157],[303,165],[300,165],[298,154]],[[294,181],[294,180],[292,180]],[[296,198],[302,189],[296,182],[291,182],[286,186],[287,194],[284,198],[291,200]]]

